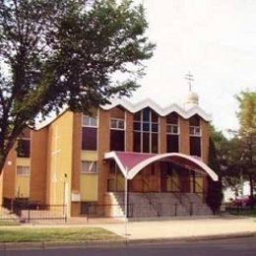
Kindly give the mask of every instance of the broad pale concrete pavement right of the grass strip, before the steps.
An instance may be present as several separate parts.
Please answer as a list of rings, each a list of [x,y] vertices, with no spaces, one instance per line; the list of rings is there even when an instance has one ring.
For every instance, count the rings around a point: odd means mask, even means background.
[[[256,219],[195,219],[134,222],[127,224],[94,224],[129,240],[178,240],[256,235]]]

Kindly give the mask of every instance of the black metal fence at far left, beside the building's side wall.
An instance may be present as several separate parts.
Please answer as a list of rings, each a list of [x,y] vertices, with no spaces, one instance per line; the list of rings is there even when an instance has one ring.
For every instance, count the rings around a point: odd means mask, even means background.
[[[43,220],[67,222],[66,205],[42,205],[35,201],[4,198],[0,206],[0,220],[19,220],[23,223]]]

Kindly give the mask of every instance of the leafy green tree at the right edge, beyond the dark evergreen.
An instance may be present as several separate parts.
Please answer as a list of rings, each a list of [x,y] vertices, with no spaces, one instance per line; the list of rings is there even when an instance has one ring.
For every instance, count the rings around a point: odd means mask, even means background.
[[[233,132],[225,147],[225,181],[238,189],[241,177],[249,180],[253,199],[256,181],[256,92],[241,92],[236,99],[239,103],[237,116],[240,127]],[[251,207],[253,202],[251,200]]]

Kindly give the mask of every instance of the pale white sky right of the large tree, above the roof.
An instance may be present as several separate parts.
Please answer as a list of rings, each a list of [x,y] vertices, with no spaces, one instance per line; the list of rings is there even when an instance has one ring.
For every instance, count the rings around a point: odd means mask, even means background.
[[[135,0],[144,2],[148,35],[157,43],[142,87],[132,101],[151,97],[160,105],[182,103],[192,90],[213,114],[217,128],[237,129],[234,95],[256,90],[255,0]]]

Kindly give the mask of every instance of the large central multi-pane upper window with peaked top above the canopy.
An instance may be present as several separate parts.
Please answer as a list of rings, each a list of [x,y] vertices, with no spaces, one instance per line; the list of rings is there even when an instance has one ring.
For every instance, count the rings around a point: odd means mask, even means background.
[[[150,107],[134,114],[134,152],[159,152],[159,116]]]

